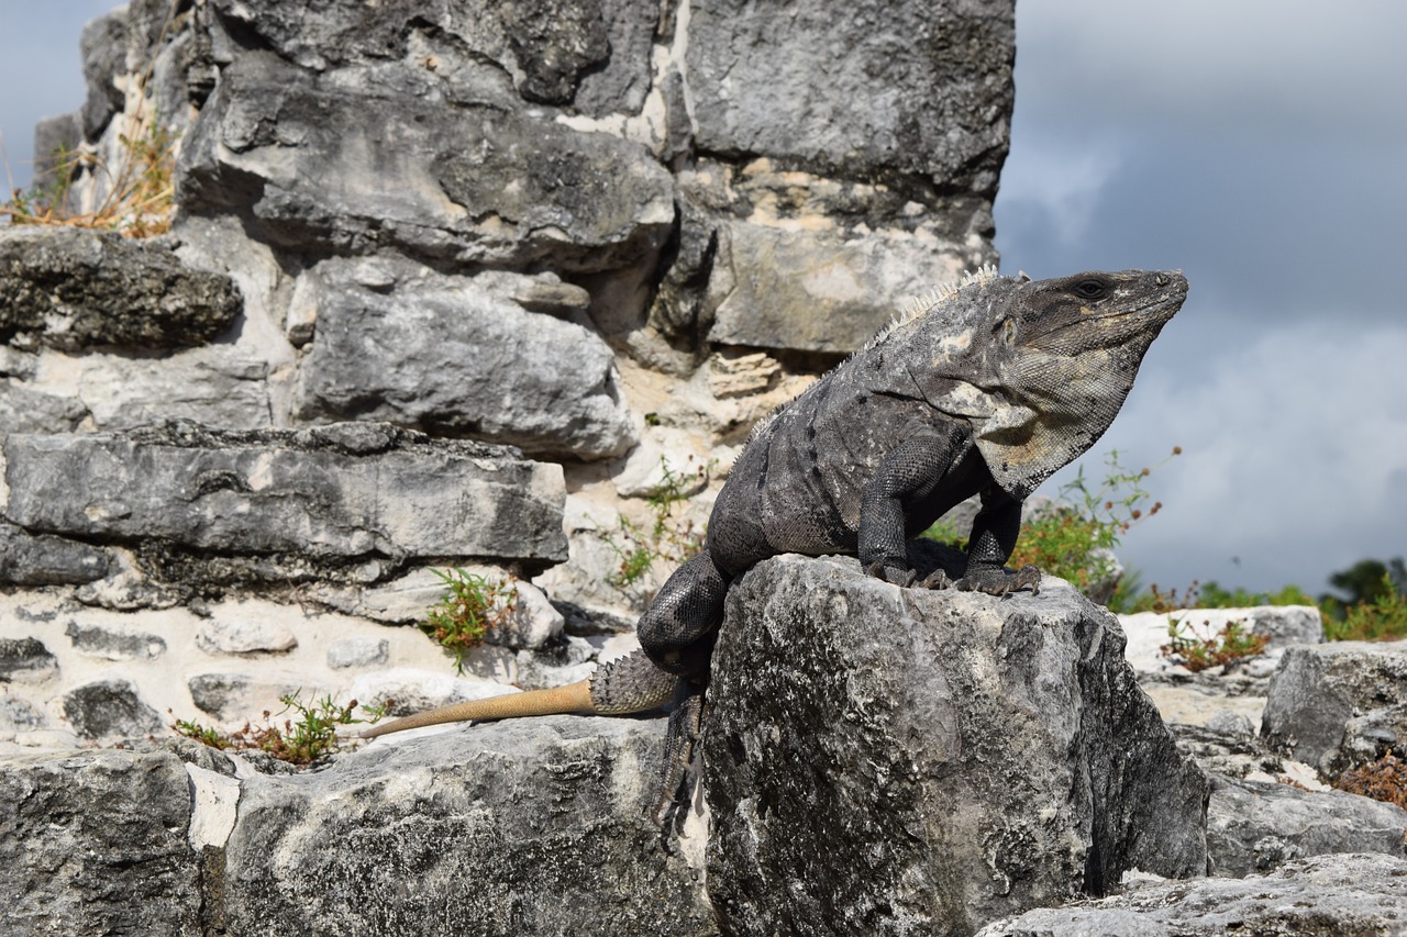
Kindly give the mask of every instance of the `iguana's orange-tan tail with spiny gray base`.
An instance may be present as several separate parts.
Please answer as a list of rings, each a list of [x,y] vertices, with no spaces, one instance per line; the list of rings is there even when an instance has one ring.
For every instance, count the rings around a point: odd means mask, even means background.
[[[674,677],[650,663],[643,651],[635,651],[620,660],[602,664],[587,680],[554,687],[532,689],[525,694],[505,694],[488,699],[470,699],[419,712],[414,716],[395,719],[384,726],[373,726],[362,733],[363,739],[376,739],[390,732],[438,726],[446,722],[469,719],[515,719],[518,716],[550,716],[563,712],[587,712],[602,716],[625,715],[657,709],[670,702],[674,695]]]

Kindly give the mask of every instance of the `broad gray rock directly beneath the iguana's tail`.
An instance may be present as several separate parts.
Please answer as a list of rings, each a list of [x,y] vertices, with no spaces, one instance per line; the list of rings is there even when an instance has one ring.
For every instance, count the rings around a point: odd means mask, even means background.
[[[246,781],[228,933],[713,934],[695,872],[643,816],[661,730],[552,716]]]

